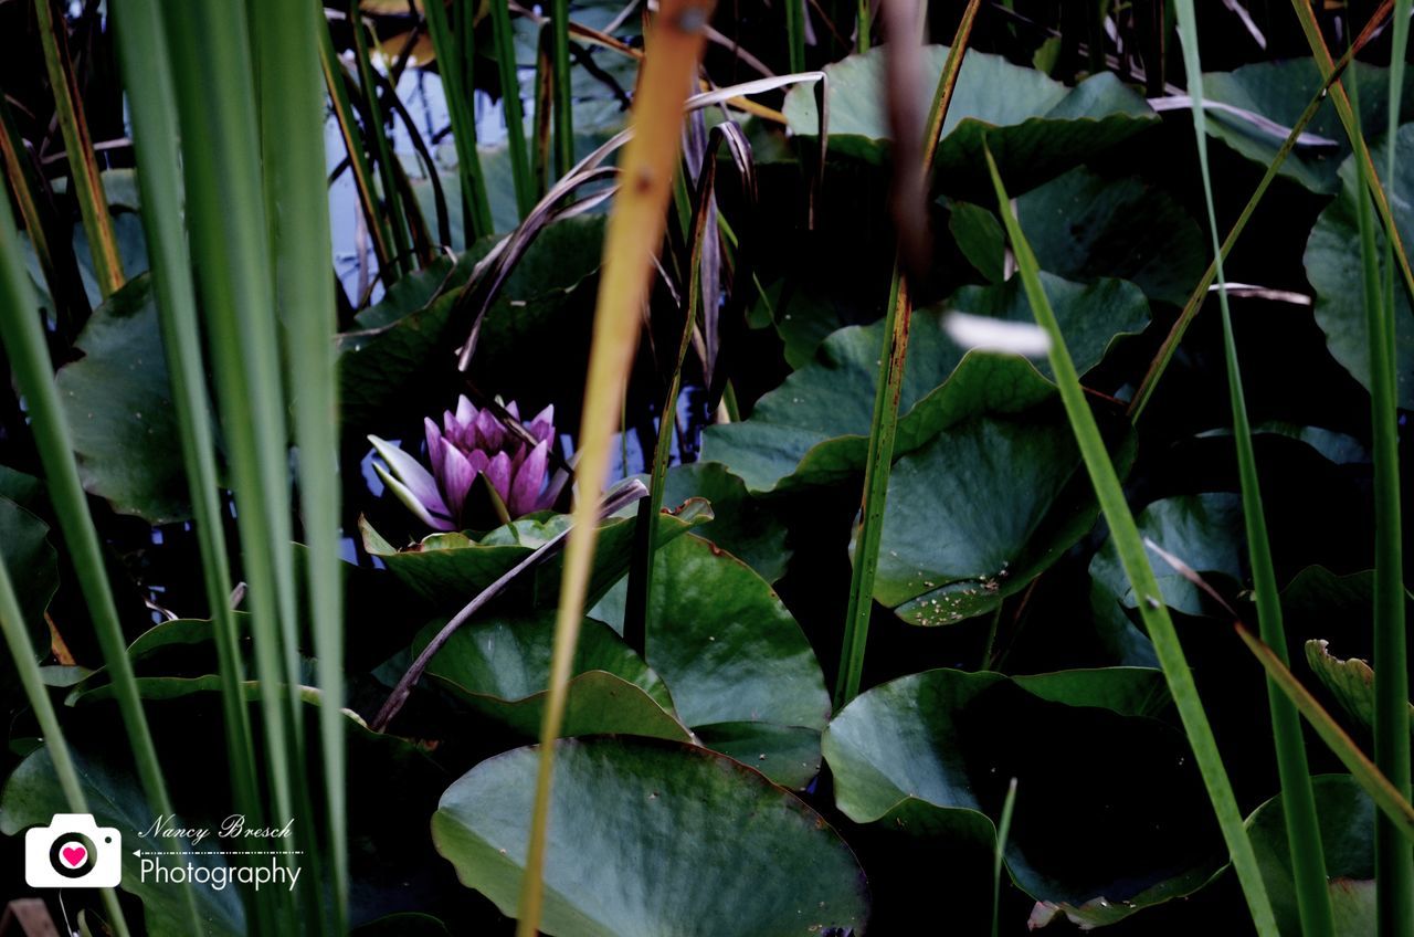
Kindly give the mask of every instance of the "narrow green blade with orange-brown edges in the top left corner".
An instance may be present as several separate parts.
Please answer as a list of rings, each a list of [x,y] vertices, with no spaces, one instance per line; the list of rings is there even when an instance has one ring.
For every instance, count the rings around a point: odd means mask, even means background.
[[[83,119],[83,99],[74,78],[68,27],[64,17],[55,16],[52,0],[34,0],[34,11],[40,21],[40,42],[44,47],[44,65],[49,72],[49,88],[54,91],[59,132],[64,134],[64,150],[68,153],[69,173],[74,177],[74,197],[83,218],[89,251],[93,253],[98,287],[103,299],[107,299],[123,286],[123,259],[117,253],[113,219],[107,214],[107,198],[103,195],[103,177],[99,176],[98,161],[93,159],[93,140]]]

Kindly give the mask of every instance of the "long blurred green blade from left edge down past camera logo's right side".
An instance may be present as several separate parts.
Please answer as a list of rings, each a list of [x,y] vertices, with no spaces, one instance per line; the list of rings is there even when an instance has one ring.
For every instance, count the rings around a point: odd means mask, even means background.
[[[93,527],[88,494],[79,481],[78,464],[74,460],[74,437],[59,405],[54,365],[40,324],[40,304],[30,287],[30,275],[24,269],[18,248],[20,238],[16,235],[14,217],[10,214],[10,200],[0,198],[0,343],[4,344],[10,371],[24,398],[30,429],[49,488],[49,501],[54,504],[54,514],[68,544],[79,589],[103,653],[103,662],[112,674],[113,695],[117,698],[147,805],[153,812],[171,814],[167,781],[157,761],[157,747],[153,745],[143,701],[137,694],[133,662],[127,657],[127,643],[117,620],[117,606],[103,561],[103,545],[98,528]],[[197,904],[191,887],[184,889],[184,893],[195,923]]]

